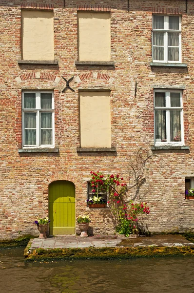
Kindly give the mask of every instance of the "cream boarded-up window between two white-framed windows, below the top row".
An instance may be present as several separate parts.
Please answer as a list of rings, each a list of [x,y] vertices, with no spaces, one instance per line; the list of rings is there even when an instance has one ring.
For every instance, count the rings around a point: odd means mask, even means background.
[[[109,91],[80,92],[81,147],[111,147]]]

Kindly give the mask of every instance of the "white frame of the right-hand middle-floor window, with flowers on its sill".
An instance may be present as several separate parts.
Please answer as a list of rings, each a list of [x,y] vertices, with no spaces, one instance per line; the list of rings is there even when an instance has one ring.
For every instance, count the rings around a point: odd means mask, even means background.
[[[165,92],[166,95],[166,106],[165,107],[156,107],[155,106],[155,93],[156,92]],[[171,107],[170,103],[170,93],[176,92],[180,93],[180,107]],[[166,142],[156,142],[155,139],[155,110],[165,110],[166,111]],[[180,142],[171,142],[170,138],[170,110],[180,110],[180,123],[181,123],[181,141]],[[174,146],[183,146],[184,145],[184,124],[183,124],[183,101],[182,101],[182,90],[171,90],[171,89],[155,89],[154,90],[154,142],[155,146],[161,145],[174,145]]]

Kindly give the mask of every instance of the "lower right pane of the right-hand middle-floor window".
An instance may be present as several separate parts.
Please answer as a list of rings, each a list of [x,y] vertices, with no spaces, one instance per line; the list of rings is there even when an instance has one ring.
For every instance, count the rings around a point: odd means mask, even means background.
[[[181,141],[180,110],[170,110],[171,142]]]

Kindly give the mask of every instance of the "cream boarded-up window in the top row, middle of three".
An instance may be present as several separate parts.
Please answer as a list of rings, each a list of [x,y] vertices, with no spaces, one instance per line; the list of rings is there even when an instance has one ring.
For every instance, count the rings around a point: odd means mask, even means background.
[[[110,13],[78,12],[79,61],[110,61],[110,30]]]

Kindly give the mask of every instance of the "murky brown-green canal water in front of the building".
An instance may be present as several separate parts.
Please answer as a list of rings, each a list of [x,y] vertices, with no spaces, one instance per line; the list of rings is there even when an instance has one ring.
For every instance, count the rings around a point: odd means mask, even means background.
[[[194,293],[194,257],[24,263],[0,251],[0,293]]]

